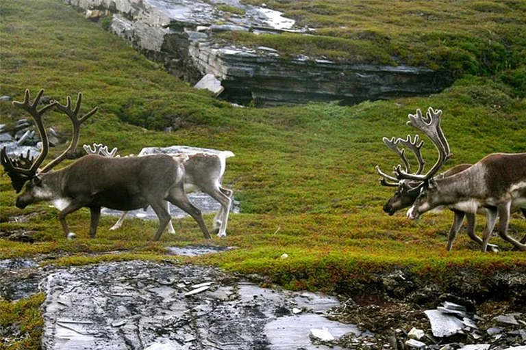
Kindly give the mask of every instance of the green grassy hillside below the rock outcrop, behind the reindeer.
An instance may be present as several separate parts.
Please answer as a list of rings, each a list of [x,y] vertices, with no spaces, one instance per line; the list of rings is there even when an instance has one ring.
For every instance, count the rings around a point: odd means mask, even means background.
[[[307,1],[289,5],[294,3]],[[489,6],[488,1],[484,3]],[[503,3],[511,9],[505,12],[510,16],[524,13],[518,1]],[[81,144],[102,142],[118,147],[121,154],[137,153],[143,146],[174,144],[236,154],[227,161],[224,183],[234,189],[241,213],[231,215],[228,237],[212,243],[238,249],[184,261],[261,273],[288,288],[340,293],[366,282],[372,273],[391,268],[408,269],[444,284],[462,267],[475,271],[481,280],[496,271],[526,271],[525,253],[508,251],[510,245],[497,238],[492,243],[501,246],[499,254],[481,254],[463,232],[453,252],[445,252],[453,219],[449,212],[428,214],[419,221],[409,221],[403,213],[388,217],[381,206],[392,189],[378,185],[374,170],[375,165],[388,170],[399,162],[381,137],[414,134],[405,126],[408,113],[429,106],[444,112],[442,127],[454,154],[447,167],[475,162],[490,152],[525,152],[526,94],[519,79],[525,67],[521,62],[503,67],[497,75],[464,75],[448,90],[429,98],[353,107],[312,103],[234,108],[171,77],[60,0],[1,0],[0,18],[0,94],[21,100],[25,88],[33,96],[44,88],[45,96],[64,103],[67,95],[82,91],[82,110],[94,106],[100,110],[83,127]],[[370,19],[375,25],[375,16]],[[471,31],[464,35],[476,39]],[[21,110],[10,103],[0,104],[2,123],[22,117]],[[64,116],[50,113],[46,123],[67,139],[70,126]],[[167,125],[176,130],[156,131]],[[428,163],[436,158],[429,142],[424,155]],[[205,243],[190,219],[175,221],[177,234],[165,233],[159,243],[152,243],[147,237],[153,237],[156,221],[129,219],[123,230],[110,232],[115,218],[103,217],[97,239],[88,239],[89,213],[84,209],[68,217],[79,238],[66,241],[56,209],[48,204],[23,211],[14,207],[16,194],[3,170],[0,174],[1,231],[29,230],[36,239],[34,244],[0,239],[0,258],[60,253],[62,258],[53,263],[64,265],[165,259],[166,245]],[[34,215],[26,221],[10,220],[29,213]],[[210,223],[212,216],[205,219]],[[477,232],[483,226],[480,218]],[[517,237],[526,234],[526,220],[514,215],[510,231]],[[116,250],[125,253],[91,254]],[[284,253],[288,259],[279,258]]]

